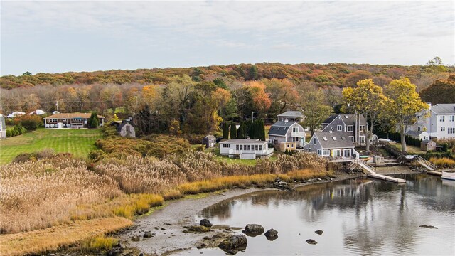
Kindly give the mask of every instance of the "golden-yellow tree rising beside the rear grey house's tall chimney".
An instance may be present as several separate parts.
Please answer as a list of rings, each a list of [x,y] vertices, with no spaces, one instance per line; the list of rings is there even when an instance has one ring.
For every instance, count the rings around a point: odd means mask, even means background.
[[[382,87],[375,85],[372,79],[360,80],[357,87],[343,89],[343,110],[355,110],[370,120],[370,129],[366,131],[367,151],[370,150],[370,138],[373,135],[373,128],[380,118],[380,114],[387,106],[387,97],[382,92]]]

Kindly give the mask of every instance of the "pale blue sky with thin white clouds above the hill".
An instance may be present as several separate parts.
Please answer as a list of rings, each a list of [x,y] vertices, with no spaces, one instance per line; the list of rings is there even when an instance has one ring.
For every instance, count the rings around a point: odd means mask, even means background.
[[[455,1],[4,1],[0,74],[455,64]]]

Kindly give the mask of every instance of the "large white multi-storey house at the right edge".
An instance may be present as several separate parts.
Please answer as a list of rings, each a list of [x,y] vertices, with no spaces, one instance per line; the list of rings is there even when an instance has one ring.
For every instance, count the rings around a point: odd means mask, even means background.
[[[407,133],[410,131],[428,132],[430,139],[454,139],[455,103],[434,106],[429,104],[428,110],[417,114],[417,122],[407,129]]]

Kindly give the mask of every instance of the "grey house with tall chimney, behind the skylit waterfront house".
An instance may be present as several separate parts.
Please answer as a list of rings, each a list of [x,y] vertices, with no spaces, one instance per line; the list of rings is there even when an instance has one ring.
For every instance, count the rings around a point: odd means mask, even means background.
[[[356,146],[365,145],[368,122],[363,114],[332,114],[322,122],[322,132],[347,132],[348,139]],[[377,142],[378,137],[373,134],[370,142]]]

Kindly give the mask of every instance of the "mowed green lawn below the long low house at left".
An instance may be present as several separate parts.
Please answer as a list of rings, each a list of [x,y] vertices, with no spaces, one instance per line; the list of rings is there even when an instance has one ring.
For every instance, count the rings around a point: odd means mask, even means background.
[[[100,129],[38,129],[0,140],[0,164],[8,164],[20,153],[41,149],[85,157],[96,149],[95,141],[101,137]]]

